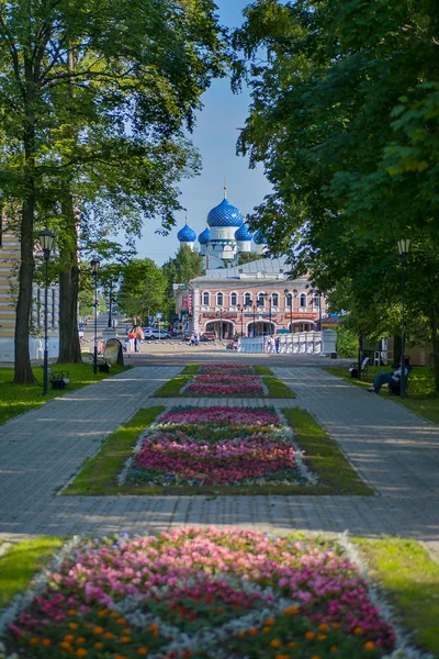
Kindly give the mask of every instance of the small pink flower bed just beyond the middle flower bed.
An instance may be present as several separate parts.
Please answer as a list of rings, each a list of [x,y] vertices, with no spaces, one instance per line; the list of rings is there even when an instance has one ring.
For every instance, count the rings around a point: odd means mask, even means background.
[[[200,395],[246,395],[263,394],[262,378],[235,373],[202,373],[194,376],[184,389],[184,393]]]

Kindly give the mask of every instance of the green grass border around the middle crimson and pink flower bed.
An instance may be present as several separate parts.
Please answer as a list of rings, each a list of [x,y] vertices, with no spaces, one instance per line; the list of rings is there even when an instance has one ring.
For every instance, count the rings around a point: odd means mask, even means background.
[[[346,460],[337,444],[305,410],[283,410],[294,431],[294,440],[305,450],[305,462],[319,478],[317,485],[200,485],[159,487],[149,484],[117,485],[117,474],[140,433],[154,422],[165,407],[139,410],[133,418],[113,433],[100,451],[78,473],[75,481],[63,491],[64,495],[120,495],[120,494],[358,494],[370,495],[369,488]]]

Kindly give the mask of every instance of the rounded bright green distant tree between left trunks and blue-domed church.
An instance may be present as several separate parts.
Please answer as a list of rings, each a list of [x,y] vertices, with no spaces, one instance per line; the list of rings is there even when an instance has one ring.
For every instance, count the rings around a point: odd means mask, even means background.
[[[161,268],[150,259],[133,259],[122,272],[117,300],[123,311],[133,320],[162,313],[167,279]]]

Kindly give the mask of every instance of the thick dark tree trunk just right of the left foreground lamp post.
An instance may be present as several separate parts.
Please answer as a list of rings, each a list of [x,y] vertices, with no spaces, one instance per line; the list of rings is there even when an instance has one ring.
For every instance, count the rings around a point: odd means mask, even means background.
[[[63,204],[64,241],[59,258],[65,269],[59,273],[59,364],[80,364],[81,346],[78,334],[79,264],[78,234],[74,200],[68,196]]]

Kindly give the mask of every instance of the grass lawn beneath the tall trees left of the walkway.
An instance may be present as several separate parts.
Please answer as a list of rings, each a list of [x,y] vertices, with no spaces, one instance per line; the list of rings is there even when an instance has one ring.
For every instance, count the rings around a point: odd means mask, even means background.
[[[110,373],[93,373],[93,368],[90,364],[63,364],[50,365],[54,370],[68,370],[70,382],[68,389],[64,391],[49,391],[43,398],[43,369],[41,366],[34,367],[33,371],[40,384],[14,384],[13,368],[0,368],[0,424],[29,412],[38,405],[43,405],[58,395],[64,395],[69,391],[80,389],[86,384],[92,384],[99,380],[104,380],[111,376],[115,376],[127,367],[112,366]],[[128,367],[131,368],[131,367]]]

